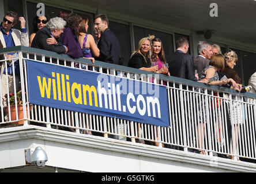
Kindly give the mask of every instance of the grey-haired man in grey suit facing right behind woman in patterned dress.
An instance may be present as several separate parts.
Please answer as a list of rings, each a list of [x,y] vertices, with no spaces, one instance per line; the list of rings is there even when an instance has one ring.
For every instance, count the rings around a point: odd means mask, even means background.
[[[212,57],[212,45],[206,41],[199,41],[197,45],[198,56],[194,59],[194,68],[198,75],[209,65],[210,57]]]

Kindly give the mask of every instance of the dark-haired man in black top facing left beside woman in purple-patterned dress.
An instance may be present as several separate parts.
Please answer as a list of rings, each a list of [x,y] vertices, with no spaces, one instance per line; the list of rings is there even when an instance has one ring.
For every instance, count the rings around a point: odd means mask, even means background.
[[[98,48],[100,56],[96,60],[107,63],[122,64],[123,57],[119,41],[114,33],[108,28],[108,18],[104,14],[99,14],[94,18],[94,28],[101,32]]]

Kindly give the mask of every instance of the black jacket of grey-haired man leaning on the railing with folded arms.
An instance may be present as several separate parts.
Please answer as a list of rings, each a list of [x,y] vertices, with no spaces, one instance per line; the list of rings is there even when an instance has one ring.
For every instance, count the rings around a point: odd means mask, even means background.
[[[65,53],[66,49],[63,47],[63,45],[48,45],[46,43],[46,39],[51,37],[51,32],[49,29],[47,29],[46,26],[44,26],[42,29],[36,32],[36,36],[34,37],[31,47],[33,48],[39,48],[44,49],[47,51],[57,52],[57,53]],[[59,39],[56,39],[59,43]]]

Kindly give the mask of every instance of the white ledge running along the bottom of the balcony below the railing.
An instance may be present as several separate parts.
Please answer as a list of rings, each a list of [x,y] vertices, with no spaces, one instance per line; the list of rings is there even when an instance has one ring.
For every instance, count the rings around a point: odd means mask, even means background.
[[[18,148],[15,142],[19,143]],[[191,152],[160,148],[152,145],[131,143],[99,136],[83,135],[74,132],[60,131],[28,125],[22,127],[0,129],[0,145],[8,144],[9,149],[15,150],[42,146],[49,155],[47,166],[62,167],[81,171],[92,172],[255,172],[256,164],[239,162],[236,160],[219,158],[216,156],[199,155]],[[14,144],[14,145],[13,145]],[[11,146],[12,145],[12,146]],[[13,147],[13,148],[11,148]],[[3,148],[3,147],[2,147]],[[25,164],[25,159],[12,161],[15,156],[9,150],[10,167]],[[0,153],[6,154],[7,150],[1,149]],[[4,153],[5,152],[5,153]],[[67,153],[69,152],[69,154]],[[1,153],[1,155],[2,155]],[[13,155],[12,155],[13,154]],[[55,155],[55,156],[52,156]],[[71,154],[71,155],[70,155]],[[68,164],[63,160],[69,159]],[[82,155],[86,155],[85,157]],[[98,156],[95,156],[98,155]],[[73,158],[74,156],[74,158]],[[24,155],[22,155],[24,157]],[[81,158],[80,158],[81,157]],[[51,159],[52,158],[52,159]],[[84,163],[95,163],[99,167],[83,166],[72,162],[84,160]],[[88,158],[91,158],[88,162]],[[1,159],[0,159],[1,161]],[[112,163],[111,167],[106,163]],[[118,163],[119,162],[119,163]],[[127,166],[127,163],[132,163]],[[8,163],[6,163],[8,164]],[[22,164],[20,164],[22,165]],[[89,164],[90,165],[90,164]],[[124,168],[120,168],[123,166]],[[127,166],[127,167],[126,167]],[[6,166],[5,166],[6,167]],[[0,162],[0,168],[1,166]],[[157,168],[157,169],[156,169]],[[159,170],[160,168],[160,170]],[[161,169],[163,168],[163,169]],[[179,168],[179,169],[177,169]]]

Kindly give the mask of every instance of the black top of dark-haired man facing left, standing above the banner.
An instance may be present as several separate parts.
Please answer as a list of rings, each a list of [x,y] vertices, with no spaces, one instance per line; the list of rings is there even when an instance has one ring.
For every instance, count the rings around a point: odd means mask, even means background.
[[[100,56],[97,57],[96,60],[114,64],[123,63],[119,41],[109,28],[101,33],[97,46],[100,49]]]

